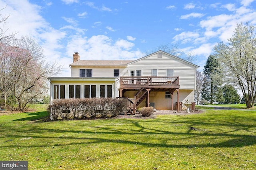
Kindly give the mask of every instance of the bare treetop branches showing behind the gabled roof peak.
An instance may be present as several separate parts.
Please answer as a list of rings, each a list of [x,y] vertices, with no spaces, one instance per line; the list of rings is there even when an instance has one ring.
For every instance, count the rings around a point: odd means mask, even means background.
[[[162,44],[162,45],[159,45],[155,50],[147,51],[146,54],[149,55],[158,50],[164,51],[166,53],[169,53],[171,55],[184,59],[190,63],[193,63],[196,61],[196,58],[192,53],[186,53],[185,51],[182,51],[181,49],[179,49],[178,44],[175,44],[175,45],[170,45],[169,43]]]

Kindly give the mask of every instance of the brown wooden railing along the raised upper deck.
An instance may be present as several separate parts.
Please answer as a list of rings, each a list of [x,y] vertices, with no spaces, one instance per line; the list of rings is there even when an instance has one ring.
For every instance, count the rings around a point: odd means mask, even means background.
[[[120,86],[122,85],[179,85],[179,77],[120,77]]]

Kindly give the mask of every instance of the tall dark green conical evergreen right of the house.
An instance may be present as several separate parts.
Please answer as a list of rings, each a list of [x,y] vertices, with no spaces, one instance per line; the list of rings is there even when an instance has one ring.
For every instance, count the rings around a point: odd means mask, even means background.
[[[218,95],[218,87],[222,83],[222,78],[220,74],[220,64],[218,63],[216,57],[210,55],[204,65],[204,83],[202,89],[202,98],[210,101],[212,104],[216,101]],[[221,94],[218,95],[218,98],[221,98]]]

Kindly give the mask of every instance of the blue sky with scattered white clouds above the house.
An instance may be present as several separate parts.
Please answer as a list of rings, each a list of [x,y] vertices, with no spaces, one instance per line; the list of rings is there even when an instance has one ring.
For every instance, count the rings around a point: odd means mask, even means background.
[[[7,6],[6,6],[7,5]],[[176,45],[204,64],[237,23],[256,25],[255,0],[0,0],[6,33],[30,35],[70,76],[81,60],[133,60],[160,45]]]

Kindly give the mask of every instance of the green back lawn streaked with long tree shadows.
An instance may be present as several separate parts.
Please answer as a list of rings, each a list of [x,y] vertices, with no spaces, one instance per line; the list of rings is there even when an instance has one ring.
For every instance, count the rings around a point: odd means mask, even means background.
[[[0,116],[0,160],[28,160],[37,170],[256,168],[256,111],[55,122],[40,115],[45,109]]]

